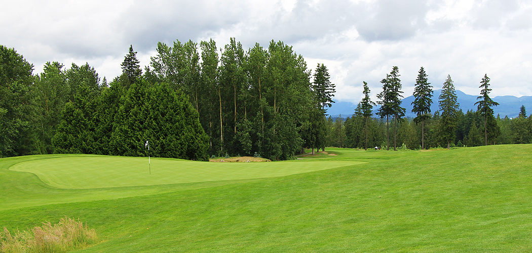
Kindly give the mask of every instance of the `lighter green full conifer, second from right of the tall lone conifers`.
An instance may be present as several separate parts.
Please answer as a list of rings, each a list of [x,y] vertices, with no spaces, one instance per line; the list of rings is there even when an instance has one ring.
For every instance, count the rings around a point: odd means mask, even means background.
[[[443,83],[442,92],[439,95],[439,109],[442,111],[439,133],[440,138],[447,143],[447,148],[450,148],[451,142],[454,143],[456,138],[458,123],[456,113],[459,108],[459,104],[456,102],[457,98],[451,75],[447,75],[447,79]]]

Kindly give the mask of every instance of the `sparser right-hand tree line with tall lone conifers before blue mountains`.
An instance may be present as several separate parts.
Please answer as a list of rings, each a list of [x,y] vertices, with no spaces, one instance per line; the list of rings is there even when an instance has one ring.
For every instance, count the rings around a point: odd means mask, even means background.
[[[527,117],[525,106],[521,106],[519,117],[509,119],[493,115],[493,106],[498,104],[489,97],[489,78],[484,75],[480,81],[480,96],[477,97],[477,111],[463,112],[456,101],[451,76],[443,83],[437,103],[439,110],[430,111],[433,102],[433,86],[423,67],[420,68],[414,87],[412,112],[415,118],[404,118],[401,107],[402,91],[398,68],[381,81],[383,90],[377,95],[377,103],[370,100],[370,90],[363,82],[364,98],[357,105],[352,116],[343,119],[329,117],[326,127],[326,146],[347,148],[394,148],[426,149],[437,147],[475,147],[495,144],[525,144],[532,142],[532,115]],[[372,117],[372,108],[379,117]],[[393,121],[389,122],[389,118]],[[390,134],[390,129],[393,133]],[[393,145],[390,143],[392,135]]]

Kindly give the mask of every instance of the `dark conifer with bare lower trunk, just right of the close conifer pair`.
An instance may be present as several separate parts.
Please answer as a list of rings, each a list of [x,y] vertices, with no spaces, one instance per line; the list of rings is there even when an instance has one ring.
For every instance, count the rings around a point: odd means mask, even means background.
[[[414,88],[414,101],[412,102],[412,112],[417,115],[414,121],[421,121],[421,149],[425,149],[425,121],[430,119],[430,105],[433,96],[433,87],[427,80],[427,73],[425,69],[421,67],[419,70],[418,78],[415,79]]]

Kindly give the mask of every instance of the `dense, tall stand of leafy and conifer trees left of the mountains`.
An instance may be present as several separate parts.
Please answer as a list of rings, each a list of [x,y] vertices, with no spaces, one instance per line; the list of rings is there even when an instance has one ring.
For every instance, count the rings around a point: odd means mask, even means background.
[[[157,45],[142,70],[132,46],[107,83],[89,64],[33,65],[0,46],[0,156],[53,153],[292,159],[323,145],[335,85],[282,41]]]

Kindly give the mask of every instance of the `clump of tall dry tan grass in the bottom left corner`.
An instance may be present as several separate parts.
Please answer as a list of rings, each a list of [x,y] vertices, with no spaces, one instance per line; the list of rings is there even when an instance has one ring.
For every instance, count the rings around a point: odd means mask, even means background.
[[[4,227],[0,231],[1,253],[68,252],[85,248],[97,242],[96,232],[79,220],[61,218],[59,224],[44,222],[28,231],[16,231],[12,235]]]

